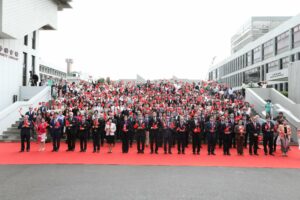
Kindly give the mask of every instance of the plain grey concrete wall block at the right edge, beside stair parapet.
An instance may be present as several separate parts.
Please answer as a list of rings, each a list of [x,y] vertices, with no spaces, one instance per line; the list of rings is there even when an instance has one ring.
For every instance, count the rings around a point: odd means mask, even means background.
[[[300,61],[289,65],[289,98],[300,104]]]

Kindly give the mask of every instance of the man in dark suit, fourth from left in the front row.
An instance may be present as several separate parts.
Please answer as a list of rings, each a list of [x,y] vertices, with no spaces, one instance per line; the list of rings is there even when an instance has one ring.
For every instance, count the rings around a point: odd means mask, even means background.
[[[67,151],[74,151],[77,137],[78,120],[73,116],[73,112],[70,112],[69,118],[65,119],[65,126],[68,142]]]

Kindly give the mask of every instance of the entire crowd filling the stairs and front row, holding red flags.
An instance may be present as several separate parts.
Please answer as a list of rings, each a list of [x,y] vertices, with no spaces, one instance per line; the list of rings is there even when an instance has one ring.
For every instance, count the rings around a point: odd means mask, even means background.
[[[61,138],[66,138],[66,151],[75,151],[80,140],[80,152],[86,152],[92,140],[93,152],[100,152],[105,143],[112,153],[115,143],[122,142],[122,153],[134,151],[151,154],[199,155],[207,144],[208,155],[222,148],[230,156],[233,149],[244,155],[258,155],[263,141],[265,155],[274,155],[281,146],[287,156],[291,128],[282,113],[276,119],[267,115],[259,122],[252,106],[244,101],[242,92],[213,81],[188,83],[181,81],[67,83],[57,87],[57,97],[30,107],[20,122],[21,152],[30,151],[30,138],[36,133],[39,151],[45,150],[47,136],[53,152],[60,150]],[[175,152],[174,152],[175,151]],[[203,151],[203,150],[202,150]]]

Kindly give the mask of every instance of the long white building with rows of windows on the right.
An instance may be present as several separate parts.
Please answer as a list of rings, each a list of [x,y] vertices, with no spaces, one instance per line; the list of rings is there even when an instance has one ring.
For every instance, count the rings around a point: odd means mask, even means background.
[[[266,81],[279,91],[288,91],[289,63],[300,60],[300,15],[233,53],[209,69],[209,80],[240,88],[243,83]]]

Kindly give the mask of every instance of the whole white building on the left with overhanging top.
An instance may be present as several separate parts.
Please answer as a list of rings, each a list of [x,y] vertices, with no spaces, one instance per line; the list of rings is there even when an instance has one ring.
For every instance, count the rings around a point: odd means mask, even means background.
[[[57,28],[57,12],[71,0],[0,0],[0,110],[39,75],[39,30]]]

